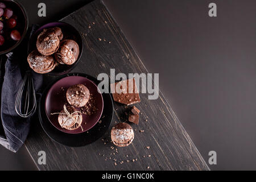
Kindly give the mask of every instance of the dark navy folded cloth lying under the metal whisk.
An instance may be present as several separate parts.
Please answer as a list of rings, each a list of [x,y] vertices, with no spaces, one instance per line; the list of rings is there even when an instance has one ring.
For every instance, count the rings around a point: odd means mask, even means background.
[[[32,32],[35,26],[32,27]],[[31,35],[30,34],[30,35]],[[30,36],[28,36],[30,38]],[[5,76],[1,92],[1,121],[4,134],[0,135],[0,144],[10,151],[16,152],[23,145],[30,130],[30,118],[22,118],[15,111],[15,98],[19,86],[22,83],[22,75],[26,72],[24,61],[27,60],[28,39],[24,39],[22,45],[14,52],[7,55],[5,64]],[[38,92],[43,82],[42,75],[32,71],[35,91]]]

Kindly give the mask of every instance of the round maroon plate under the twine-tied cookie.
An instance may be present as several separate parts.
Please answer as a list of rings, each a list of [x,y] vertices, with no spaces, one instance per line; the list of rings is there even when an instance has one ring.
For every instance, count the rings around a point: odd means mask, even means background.
[[[63,129],[59,125],[59,114],[52,115],[51,113],[60,113],[60,111],[63,110],[64,104],[67,103],[67,89],[69,88],[69,86],[76,84],[84,84],[89,89],[90,94],[93,94],[97,110],[96,113],[92,115],[82,114],[81,126],[83,130],[81,129],[81,127],[76,130],[67,130]],[[88,80],[88,78],[81,76],[69,76],[62,78],[61,80],[57,81],[55,84],[52,85],[46,96],[45,109],[49,121],[52,123],[53,126],[55,126],[58,130],[63,131],[64,133],[78,134],[90,130],[94,125],[96,125],[103,111],[103,98],[101,93],[99,92],[100,90],[98,89],[97,85],[95,85],[94,82]]]

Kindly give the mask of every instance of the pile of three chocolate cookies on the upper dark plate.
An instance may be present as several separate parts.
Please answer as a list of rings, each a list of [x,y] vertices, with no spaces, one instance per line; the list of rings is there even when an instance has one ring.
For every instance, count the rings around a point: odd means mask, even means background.
[[[74,64],[78,56],[79,45],[74,40],[63,39],[61,28],[53,27],[38,35],[36,50],[28,55],[27,61],[35,72],[48,73],[58,64]]]

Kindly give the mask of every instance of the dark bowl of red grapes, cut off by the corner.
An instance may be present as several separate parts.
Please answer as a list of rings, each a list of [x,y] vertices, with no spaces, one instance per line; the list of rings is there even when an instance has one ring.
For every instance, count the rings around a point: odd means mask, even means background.
[[[0,55],[16,48],[26,35],[27,13],[14,0],[0,0]]]

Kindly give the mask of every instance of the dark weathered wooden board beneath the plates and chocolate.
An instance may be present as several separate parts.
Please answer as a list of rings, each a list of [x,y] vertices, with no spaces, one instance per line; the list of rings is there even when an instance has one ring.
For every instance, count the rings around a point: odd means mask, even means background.
[[[110,68],[114,68],[116,73],[147,73],[142,61],[100,1],[82,7],[63,21],[75,26],[84,38],[84,52],[73,72],[97,76],[99,73],[110,74]],[[45,77],[46,82],[52,78]],[[40,170],[208,170],[163,94],[159,93],[158,100],[148,100],[147,94],[141,94],[141,100],[136,105],[142,111],[140,123],[138,126],[132,125],[135,138],[128,147],[111,148],[110,129],[115,122],[123,122],[120,118],[125,110],[123,105],[116,102],[112,124],[101,138],[104,141],[99,139],[80,148],[65,147],[47,137],[38,119],[35,119],[26,147],[36,164],[38,151],[46,151],[47,164],[37,164]],[[146,149],[146,146],[150,148]],[[114,165],[114,159],[117,166]],[[133,159],[136,160],[132,162]]]

